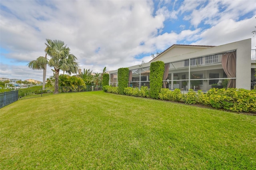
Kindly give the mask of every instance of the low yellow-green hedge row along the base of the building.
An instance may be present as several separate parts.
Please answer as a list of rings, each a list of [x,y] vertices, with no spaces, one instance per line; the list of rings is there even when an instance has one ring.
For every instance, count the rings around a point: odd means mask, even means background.
[[[118,87],[104,86],[107,93],[118,94]],[[150,97],[148,87],[138,88],[126,87],[124,94],[137,97]],[[226,109],[234,112],[253,112],[256,113],[256,90],[245,89],[210,89],[207,93],[192,89],[187,94],[182,94],[180,89],[170,91],[161,89],[158,98],[166,101],[177,101],[186,104],[201,104],[211,106],[216,109]]]

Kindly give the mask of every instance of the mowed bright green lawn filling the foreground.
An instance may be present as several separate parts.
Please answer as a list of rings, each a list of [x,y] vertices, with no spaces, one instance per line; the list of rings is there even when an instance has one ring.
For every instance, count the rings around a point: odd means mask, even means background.
[[[255,169],[256,116],[82,92],[0,109],[0,169]]]

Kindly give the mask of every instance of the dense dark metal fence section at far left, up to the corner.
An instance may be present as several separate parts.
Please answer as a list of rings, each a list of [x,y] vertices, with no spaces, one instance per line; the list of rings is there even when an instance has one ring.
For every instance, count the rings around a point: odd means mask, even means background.
[[[18,100],[18,90],[0,93],[0,108]]]

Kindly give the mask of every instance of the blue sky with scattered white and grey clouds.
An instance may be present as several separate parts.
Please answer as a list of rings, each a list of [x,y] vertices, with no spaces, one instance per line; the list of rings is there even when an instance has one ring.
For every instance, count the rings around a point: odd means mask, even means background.
[[[27,64],[45,56],[46,39],[62,40],[82,71],[101,73],[147,63],[173,44],[251,38],[255,49],[255,26],[256,0],[1,0],[0,77],[42,81]]]

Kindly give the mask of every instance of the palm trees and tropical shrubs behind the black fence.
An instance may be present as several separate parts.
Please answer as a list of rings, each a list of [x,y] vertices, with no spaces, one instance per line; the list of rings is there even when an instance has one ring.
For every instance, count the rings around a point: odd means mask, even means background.
[[[27,64],[31,69],[43,70],[43,89],[45,88],[45,85],[54,86],[54,94],[57,94],[59,85],[94,84],[96,85],[96,88],[98,88],[102,82],[102,75],[106,73],[106,67],[103,69],[102,73],[92,73],[90,69],[84,69],[84,72],[78,73],[79,64],[76,61],[77,58],[70,53],[70,48],[67,47],[63,41],[46,39],[45,45],[45,56],[40,56]],[[48,58],[48,56],[50,58]],[[54,68],[52,69],[54,74],[46,79],[47,65]],[[60,75],[60,70],[63,71],[63,75]],[[67,75],[64,74],[65,72]],[[76,75],[70,76],[72,73]]]

